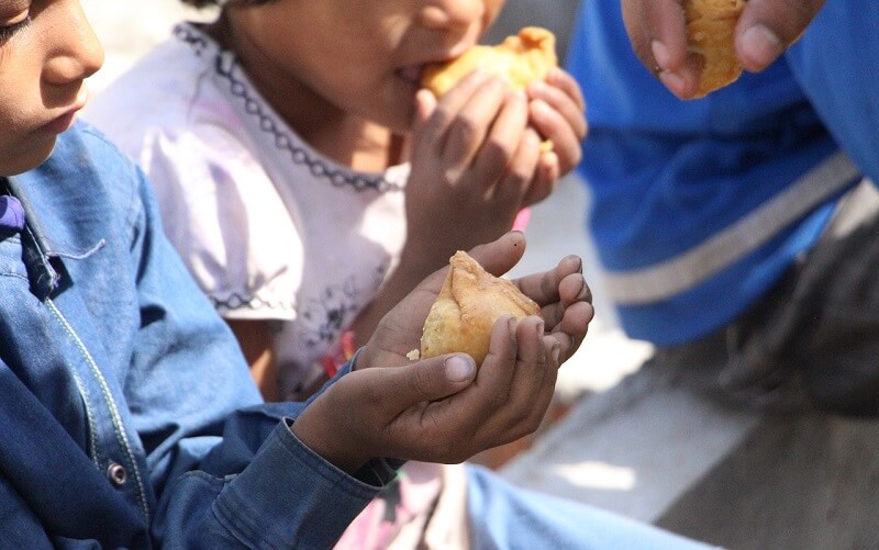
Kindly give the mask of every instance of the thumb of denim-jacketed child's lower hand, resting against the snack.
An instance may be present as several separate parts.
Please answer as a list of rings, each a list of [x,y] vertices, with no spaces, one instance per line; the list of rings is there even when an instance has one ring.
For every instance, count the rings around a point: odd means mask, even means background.
[[[454,353],[390,369],[391,400],[402,409],[416,403],[438,401],[469,386],[476,378],[470,356]]]

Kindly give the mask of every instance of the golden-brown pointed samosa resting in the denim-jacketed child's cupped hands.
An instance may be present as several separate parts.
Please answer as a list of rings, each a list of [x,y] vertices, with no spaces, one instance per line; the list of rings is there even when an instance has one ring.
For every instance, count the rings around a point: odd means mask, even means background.
[[[539,315],[539,306],[512,282],[492,276],[465,251],[452,265],[424,322],[421,358],[468,353],[477,367],[488,355],[491,327],[504,314],[518,319]]]

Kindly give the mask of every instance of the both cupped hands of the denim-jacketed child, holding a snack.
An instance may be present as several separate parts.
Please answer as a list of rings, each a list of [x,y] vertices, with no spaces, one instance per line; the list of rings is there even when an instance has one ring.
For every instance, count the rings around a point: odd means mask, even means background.
[[[487,270],[509,270],[524,251],[509,233],[470,254]],[[515,283],[542,317],[494,324],[478,372],[461,353],[411,361],[445,268],[394,307],[357,356],[355,372],[302,413],[293,433],[326,460],[353,472],[374,457],[460,462],[533,433],[552,400],[558,367],[576,351],[592,318],[591,292],[575,256]]]

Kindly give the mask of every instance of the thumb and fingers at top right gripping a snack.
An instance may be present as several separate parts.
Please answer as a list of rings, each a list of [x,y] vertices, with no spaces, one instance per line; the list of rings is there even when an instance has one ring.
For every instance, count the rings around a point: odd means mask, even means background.
[[[641,63],[681,99],[692,98],[702,60],[687,52],[682,0],[621,0],[623,20]],[[772,64],[802,35],[824,0],[749,0],[735,29],[746,70]]]

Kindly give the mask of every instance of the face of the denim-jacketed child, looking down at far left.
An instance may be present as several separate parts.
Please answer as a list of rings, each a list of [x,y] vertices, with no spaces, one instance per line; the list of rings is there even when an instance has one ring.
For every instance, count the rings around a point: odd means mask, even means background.
[[[102,64],[78,0],[0,0],[0,176],[48,158]]]

